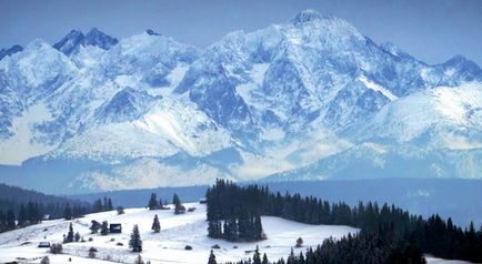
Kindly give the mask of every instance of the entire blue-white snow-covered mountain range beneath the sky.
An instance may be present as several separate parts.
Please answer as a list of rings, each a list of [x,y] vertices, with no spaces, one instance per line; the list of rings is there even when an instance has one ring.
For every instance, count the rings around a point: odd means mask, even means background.
[[[474,62],[431,65],[313,10],[204,50],[152,30],[118,40],[92,29],[0,53],[9,183],[482,177]]]

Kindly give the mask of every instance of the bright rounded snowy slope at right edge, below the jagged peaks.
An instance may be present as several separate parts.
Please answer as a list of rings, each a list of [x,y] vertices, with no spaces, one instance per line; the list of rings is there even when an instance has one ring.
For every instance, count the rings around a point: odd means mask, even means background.
[[[410,142],[433,131],[439,146],[452,150],[478,149],[482,139],[465,138],[481,131],[482,84],[440,87],[418,92],[386,104],[368,124],[373,135]],[[449,140],[454,139],[454,140]]]

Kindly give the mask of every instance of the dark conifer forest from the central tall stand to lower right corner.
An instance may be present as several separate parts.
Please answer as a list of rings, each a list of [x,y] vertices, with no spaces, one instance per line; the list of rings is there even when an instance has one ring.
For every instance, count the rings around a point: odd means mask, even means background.
[[[274,263],[424,263],[423,253],[450,260],[482,262],[482,226],[462,229],[451,219],[410,214],[394,205],[329,203],[299,194],[271,193],[265,186],[238,186],[223,180],[207,192],[208,234],[230,241],[263,238],[260,215],[307,224],[360,229],[340,241],[320,241],[305,254]],[[245,262],[240,262],[245,263]]]

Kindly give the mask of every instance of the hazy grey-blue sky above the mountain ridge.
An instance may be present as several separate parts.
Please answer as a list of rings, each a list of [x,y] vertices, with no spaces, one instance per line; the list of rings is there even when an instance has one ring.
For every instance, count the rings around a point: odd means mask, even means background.
[[[92,27],[117,38],[149,28],[204,48],[230,31],[282,23],[308,8],[429,63],[463,54],[482,65],[482,0],[0,0],[0,48],[36,38],[54,43],[71,29]]]

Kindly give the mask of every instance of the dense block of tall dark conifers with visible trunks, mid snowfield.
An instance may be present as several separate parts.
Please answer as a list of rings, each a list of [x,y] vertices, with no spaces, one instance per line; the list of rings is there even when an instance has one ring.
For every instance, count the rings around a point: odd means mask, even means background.
[[[265,238],[258,194],[252,186],[240,187],[224,181],[208,189],[208,235],[229,241]]]

